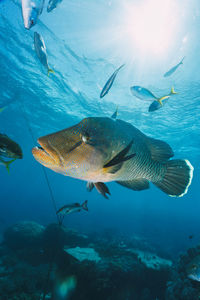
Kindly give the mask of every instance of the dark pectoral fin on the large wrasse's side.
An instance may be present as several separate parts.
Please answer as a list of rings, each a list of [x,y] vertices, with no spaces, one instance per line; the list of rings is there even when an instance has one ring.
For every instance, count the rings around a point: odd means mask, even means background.
[[[126,154],[129,152],[133,141],[131,141],[126,148],[114,156],[109,162],[107,162],[103,168],[106,169],[108,173],[116,173],[122,166],[122,163],[133,158],[136,154],[132,153],[128,156]]]

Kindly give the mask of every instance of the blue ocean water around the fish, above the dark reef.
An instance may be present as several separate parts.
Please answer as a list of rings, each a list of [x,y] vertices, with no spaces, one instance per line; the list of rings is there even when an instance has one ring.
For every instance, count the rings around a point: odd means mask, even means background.
[[[132,37],[135,31],[127,29],[130,16],[126,14],[131,5],[136,11],[141,2],[122,2],[63,1],[51,13],[46,12],[46,3],[31,30],[24,28],[20,2],[0,2],[0,107],[5,107],[0,132],[19,143],[24,154],[11,164],[10,174],[0,166],[1,234],[22,220],[56,222],[44,172],[31,152],[37,138],[85,117],[109,117],[118,106],[119,119],[166,141],[175,158],[191,162],[194,177],[188,193],[171,198],[153,184],[149,190],[134,192],[111,182],[111,196],[105,199],[96,190],[88,193],[85,182],[46,169],[57,208],[88,200],[89,211],[69,215],[64,224],[82,233],[98,235],[112,228],[116,234],[142,236],[174,257],[199,243],[200,6],[197,0],[175,4],[166,0],[172,10],[165,27],[171,31],[161,34],[165,39],[146,36],[141,44]],[[152,1],[155,4],[158,1]],[[156,27],[158,15],[159,9]],[[49,66],[55,71],[49,77],[34,51],[34,31],[45,40]],[[184,56],[183,65],[164,78]],[[106,80],[123,63],[111,90],[100,99]],[[133,85],[159,97],[174,86],[178,94],[149,113],[150,103],[131,94]],[[189,235],[194,238],[188,239]]]

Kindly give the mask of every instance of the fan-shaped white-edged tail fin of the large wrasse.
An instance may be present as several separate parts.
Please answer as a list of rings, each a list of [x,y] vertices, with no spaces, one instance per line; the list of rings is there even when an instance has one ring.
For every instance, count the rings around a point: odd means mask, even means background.
[[[193,166],[188,160],[174,159],[168,161],[165,176],[160,182],[153,182],[171,197],[182,197],[192,182]]]

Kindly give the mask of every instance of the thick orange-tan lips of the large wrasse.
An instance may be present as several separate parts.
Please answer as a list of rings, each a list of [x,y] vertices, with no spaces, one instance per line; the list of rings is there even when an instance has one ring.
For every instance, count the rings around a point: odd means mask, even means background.
[[[32,149],[32,154],[34,158],[44,166],[49,168],[60,165],[60,160],[58,155],[49,145],[48,139],[41,137],[38,139],[40,146],[34,147]]]

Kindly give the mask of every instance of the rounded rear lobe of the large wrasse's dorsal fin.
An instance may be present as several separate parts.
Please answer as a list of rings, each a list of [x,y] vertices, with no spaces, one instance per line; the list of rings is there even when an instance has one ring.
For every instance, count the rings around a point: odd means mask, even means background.
[[[172,148],[163,141],[147,138],[146,144],[151,152],[151,158],[155,161],[167,161],[174,156]]]

